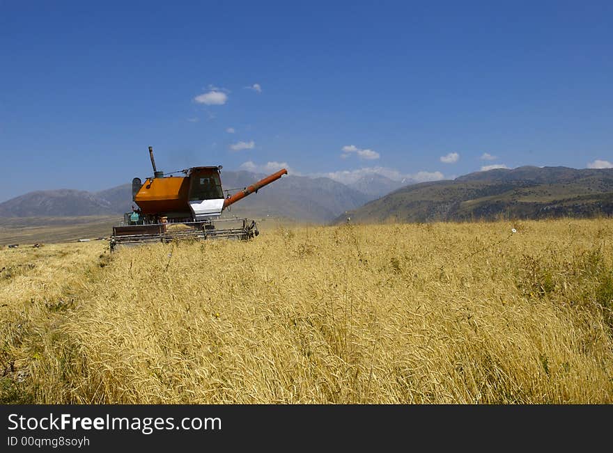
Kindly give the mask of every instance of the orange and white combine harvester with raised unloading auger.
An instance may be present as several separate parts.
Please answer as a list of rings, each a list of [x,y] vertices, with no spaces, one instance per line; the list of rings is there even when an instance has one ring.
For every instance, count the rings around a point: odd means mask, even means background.
[[[248,218],[221,219],[219,216],[226,207],[287,175],[287,170],[282,168],[233,196],[228,193],[224,198],[219,175],[221,165],[181,170],[185,174],[183,177],[164,176],[164,172],[155,168],[151,147],[149,157],[153,177],[148,177],[144,184],[138,177],[132,180],[132,200],[138,208],[124,214],[122,224],[113,227],[111,251],[122,244],[169,242],[175,239],[251,239],[258,235],[256,221]]]

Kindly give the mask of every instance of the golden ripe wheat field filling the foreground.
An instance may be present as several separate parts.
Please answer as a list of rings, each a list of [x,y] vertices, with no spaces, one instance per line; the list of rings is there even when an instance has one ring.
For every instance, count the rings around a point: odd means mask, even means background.
[[[612,239],[601,218],[3,248],[1,402],[610,404]]]

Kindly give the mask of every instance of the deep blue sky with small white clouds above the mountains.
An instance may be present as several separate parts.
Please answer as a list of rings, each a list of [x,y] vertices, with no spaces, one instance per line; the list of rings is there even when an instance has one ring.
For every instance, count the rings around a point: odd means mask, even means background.
[[[608,166],[612,24],[611,1],[0,0],[0,201],[146,177],[149,145],[166,172],[342,181]]]

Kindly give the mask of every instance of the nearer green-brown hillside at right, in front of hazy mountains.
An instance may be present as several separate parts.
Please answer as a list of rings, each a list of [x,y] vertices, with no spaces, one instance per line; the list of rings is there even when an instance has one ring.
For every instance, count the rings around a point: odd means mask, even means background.
[[[336,218],[352,221],[466,221],[613,214],[613,169],[520,167],[398,189]]]

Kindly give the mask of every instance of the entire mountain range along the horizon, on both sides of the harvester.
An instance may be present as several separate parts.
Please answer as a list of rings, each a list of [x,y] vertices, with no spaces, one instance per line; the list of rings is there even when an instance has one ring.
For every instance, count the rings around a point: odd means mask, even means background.
[[[263,177],[222,172],[229,193]],[[131,184],[123,184],[98,192],[30,192],[0,203],[0,217],[121,215],[132,210],[131,190]],[[350,184],[287,175],[240,200],[227,214],[313,223],[340,223],[347,216],[358,223],[380,223],[611,215],[613,168],[497,168],[409,185],[376,173]]]

